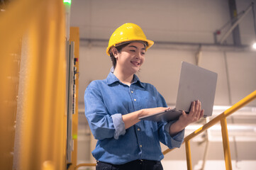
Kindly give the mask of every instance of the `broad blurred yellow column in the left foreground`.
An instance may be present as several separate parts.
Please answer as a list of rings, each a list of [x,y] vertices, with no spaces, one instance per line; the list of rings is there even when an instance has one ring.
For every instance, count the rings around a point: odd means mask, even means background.
[[[33,6],[31,6],[33,8]],[[63,2],[40,3],[28,28],[28,77],[24,96],[21,170],[65,169],[66,60]]]

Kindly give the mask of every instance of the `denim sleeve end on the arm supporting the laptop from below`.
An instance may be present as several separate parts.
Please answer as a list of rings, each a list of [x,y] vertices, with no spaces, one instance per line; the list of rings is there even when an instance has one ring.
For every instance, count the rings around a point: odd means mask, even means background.
[[[174,121],[171,121],[171,122],[167,123],[167,125],[165,125],[165,132],[170,137],[171,146],[172,147],[180,147],[182,145],[182,142],[184,141],[185,129],[178,132],[174,136],[170,136],[169,135],[169,127],[172,125],[172,123],[174,123]]]

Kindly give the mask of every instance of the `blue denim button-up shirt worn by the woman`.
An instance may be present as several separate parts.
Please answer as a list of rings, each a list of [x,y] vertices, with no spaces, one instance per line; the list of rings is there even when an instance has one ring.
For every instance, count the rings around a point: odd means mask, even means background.
[[[125,164],[135,159],[160,161],[160,142],[170,149],[180,147],[184,130],[169,135],[172,122],[141,120],[125,129],[122,115],[143,108],[167,107],[155,86],[140,82],[134,75],[130,86],[110,72],[104,80],[91,81],[84,94],[85,115],[98,140],[92,152],[94,158],[111,164]]]

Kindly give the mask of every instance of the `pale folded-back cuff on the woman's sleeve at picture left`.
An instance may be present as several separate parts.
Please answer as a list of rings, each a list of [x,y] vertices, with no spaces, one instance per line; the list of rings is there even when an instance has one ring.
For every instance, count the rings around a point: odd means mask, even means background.
[[[126,133],[126,127],[123,123],[123,118],[120,113],[111,115],[111,118],[113,119],[113,127],[115,128],[115,132],[113,137],[118,140],[118,137],[120,135],[124,135]]]

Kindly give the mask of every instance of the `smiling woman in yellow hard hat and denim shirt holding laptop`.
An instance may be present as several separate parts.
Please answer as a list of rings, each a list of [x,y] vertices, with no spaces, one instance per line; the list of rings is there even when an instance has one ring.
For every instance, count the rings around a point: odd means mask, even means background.
[[[135,75],[153,43],[133,23],[117,28],[106,49],[112,72],[104,80],[92,81],[85,91],[85,115],[98,140],[92,152],[96,169],[162,169],[160,142],[170,149],[180,147],[184,128],[204,115],[201,103],[194,101],[189,114],[183,112],[179,120],[138,119],[168,109],[157,89]]]

